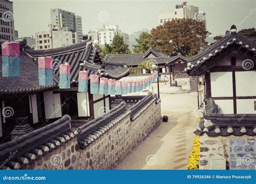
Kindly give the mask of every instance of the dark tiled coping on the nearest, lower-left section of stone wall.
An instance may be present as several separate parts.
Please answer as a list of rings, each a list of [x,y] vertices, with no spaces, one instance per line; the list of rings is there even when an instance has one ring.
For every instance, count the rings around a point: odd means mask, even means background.
[[[4,162],[2,169],[23,169],[72,140],[78,135],[78,131],[70,129],[70,122],[70,116],[65,115],[43,128],[1,144],[0,160],[1,164]],[[10,154],[12,154],[11,159]]]

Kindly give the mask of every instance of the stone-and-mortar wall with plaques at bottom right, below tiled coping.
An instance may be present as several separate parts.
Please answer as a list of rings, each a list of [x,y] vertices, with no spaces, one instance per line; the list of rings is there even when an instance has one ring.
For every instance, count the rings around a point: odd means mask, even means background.
[[[255,169],[255,136],[209,137],[200,136],[199,169],[210,169],[210,159],[221,155],[226,169]]]

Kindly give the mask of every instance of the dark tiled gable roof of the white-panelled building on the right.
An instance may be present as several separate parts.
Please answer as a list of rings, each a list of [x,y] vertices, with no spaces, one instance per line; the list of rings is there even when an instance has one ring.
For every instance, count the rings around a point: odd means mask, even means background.
[[[187,74],[196,75],[194,72],[190,72],[193,68],[204,68],[205,61],[210,60],[218,53],[225,51],[227,47],[232,45],[238,45],[240,48],[246,49],[248,52],[256,53],[256,43],[250,38],[243,36],[237,32],[231,32],[227,34],[219,41],[211,45],[210,47],[206,48],[204,51],[199,52],[197,55],[194,55],[192,58],[187,60],[187,67],[185,71]],[[205,69],[207,70],[207,69]]]

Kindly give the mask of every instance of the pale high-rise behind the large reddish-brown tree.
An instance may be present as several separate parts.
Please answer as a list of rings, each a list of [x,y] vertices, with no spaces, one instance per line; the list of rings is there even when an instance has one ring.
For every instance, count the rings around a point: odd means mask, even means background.
[[[199,11],[197,6],[187,5],[187,2],[183,2],[183,4],[177,4],[176,9],[170,13],[159,14],[158,23],[163,25],[166,22],[183,18],[191,18],[200,22],[204,21],[206,24],[206,13]]]

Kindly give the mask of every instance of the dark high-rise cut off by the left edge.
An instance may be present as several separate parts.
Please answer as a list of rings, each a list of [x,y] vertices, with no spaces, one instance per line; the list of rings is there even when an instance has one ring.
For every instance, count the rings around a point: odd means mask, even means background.
[[[0,0],[0,24],[0,44],[6,40],[14,41],[14,10],[9,0]]]

